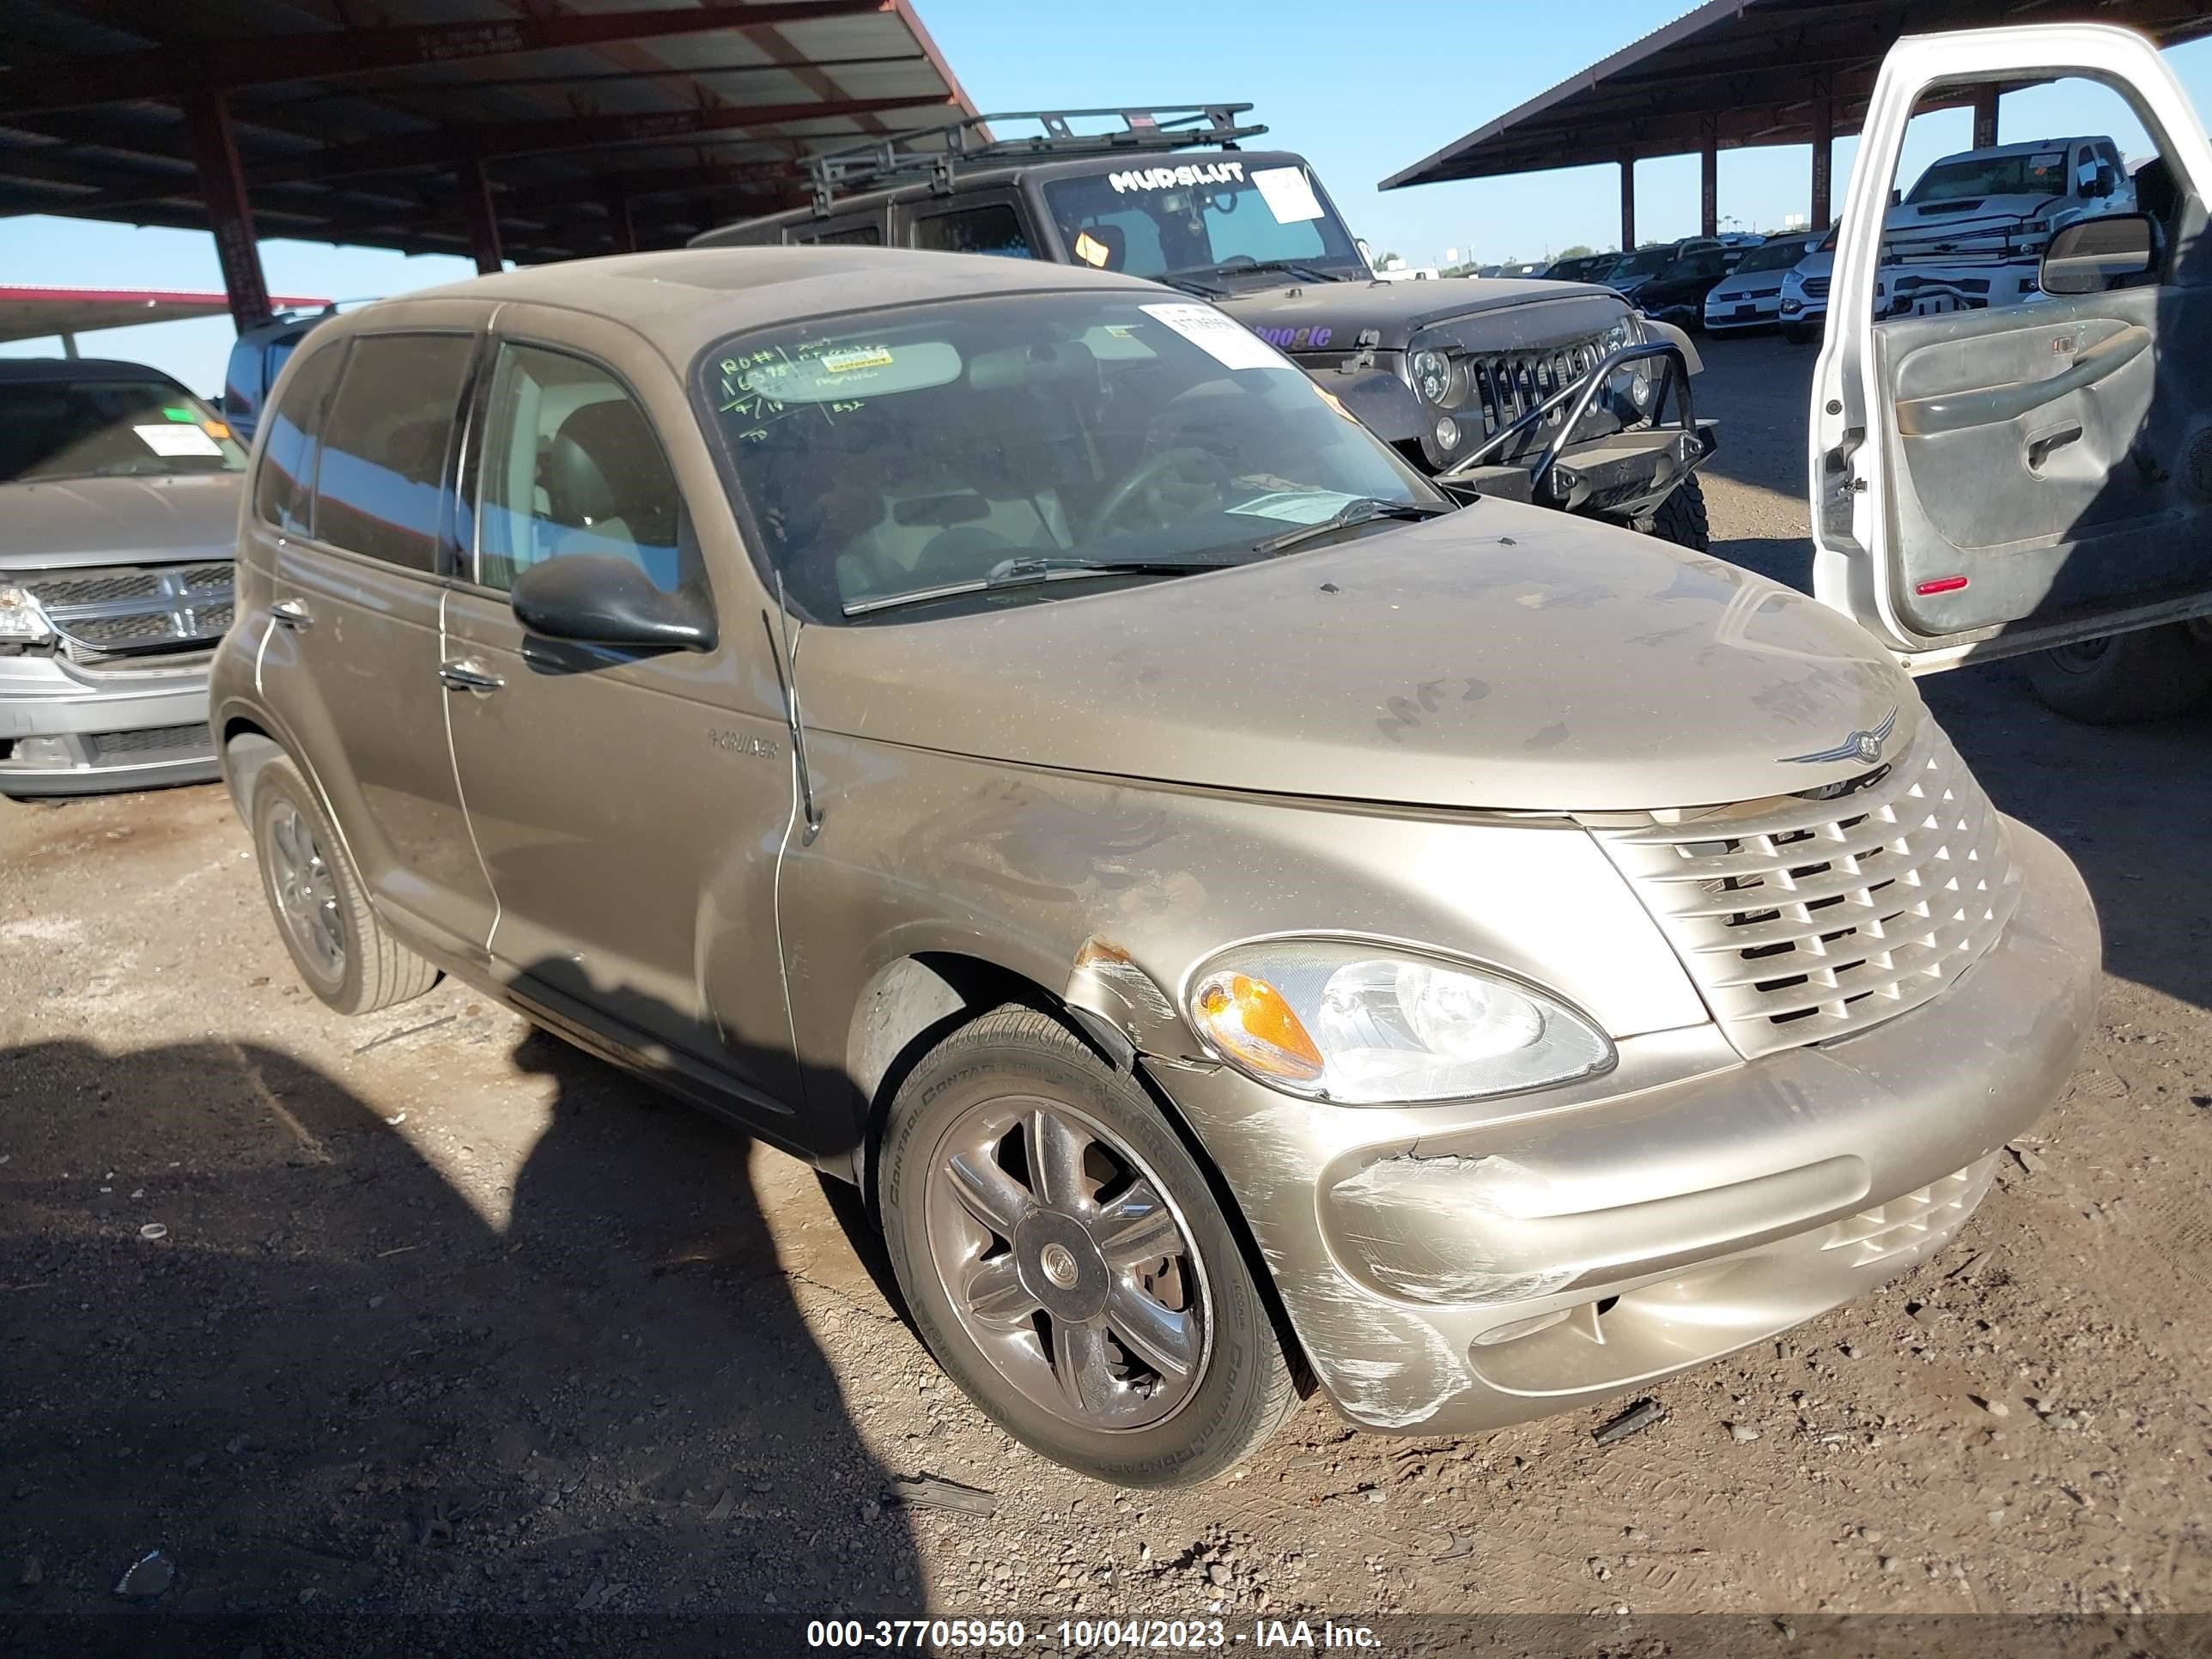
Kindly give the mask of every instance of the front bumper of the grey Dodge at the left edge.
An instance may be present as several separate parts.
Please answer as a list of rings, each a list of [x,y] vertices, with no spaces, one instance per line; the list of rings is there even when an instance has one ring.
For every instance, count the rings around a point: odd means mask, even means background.
[[[208,664],[80,677],[44,655],[0,657],[0,794],[206,783]]]

